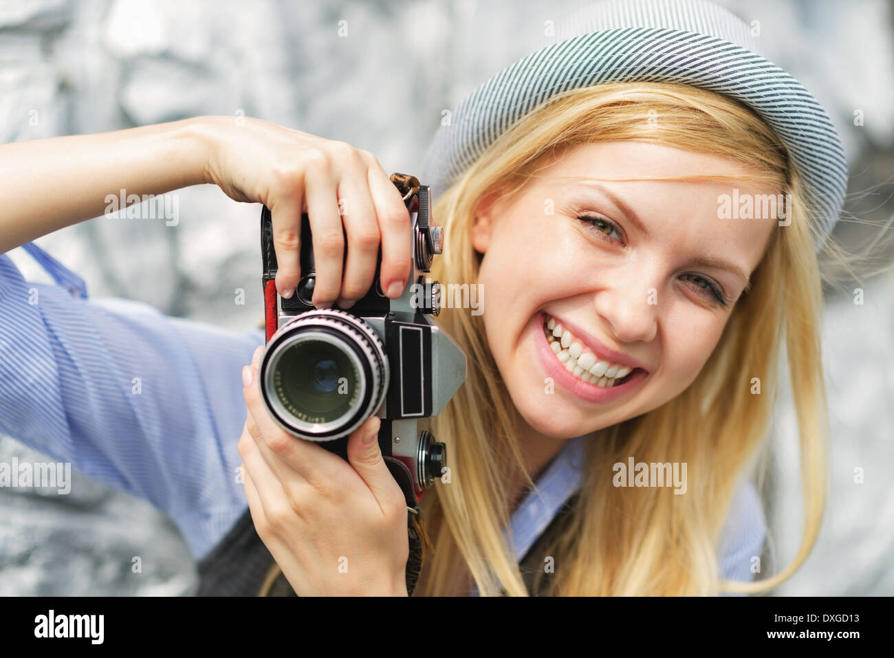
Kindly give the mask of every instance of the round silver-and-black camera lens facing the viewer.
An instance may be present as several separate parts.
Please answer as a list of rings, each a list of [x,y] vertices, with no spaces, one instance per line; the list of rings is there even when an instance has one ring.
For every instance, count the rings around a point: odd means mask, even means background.
[[[328,441],[379,408],[388,382],[384,347],[356,316],[335,309],[296,316],[271,338],[261,364],[274,419],[292,434]]]

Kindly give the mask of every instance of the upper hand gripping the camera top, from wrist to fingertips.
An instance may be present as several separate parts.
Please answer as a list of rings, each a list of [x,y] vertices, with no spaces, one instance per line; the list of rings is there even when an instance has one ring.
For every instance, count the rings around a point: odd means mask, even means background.
[[[375,156],[343,141],[250,117],[202,117],[198,122],[207,137],[206,181],[237,201],[270,209],[276,289],[283,297],[291,297],[299,283],[305,212],[313,234],[316,308],[335,303],[350,308],[367,293],[380,241],[382,290],[391,299],[401,296],[412,255],[409,212]]]

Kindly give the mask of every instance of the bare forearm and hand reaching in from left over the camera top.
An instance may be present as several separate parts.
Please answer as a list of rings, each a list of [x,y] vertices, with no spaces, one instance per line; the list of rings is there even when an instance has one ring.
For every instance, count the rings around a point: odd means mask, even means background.
[[[238,122],[237,122],[238,121]],[[163,194],[214,182],[273,215],[276,287],[300,279],[300,221],[314,235],[314,303],[349,308],[381,285],[396,299],[409,276],[409,213],[368,151],[250,117],[204,116],[125,131],[0,146],[0,251],[102,215],[106,195]],[[345,257],[345,251],[347,255]]]

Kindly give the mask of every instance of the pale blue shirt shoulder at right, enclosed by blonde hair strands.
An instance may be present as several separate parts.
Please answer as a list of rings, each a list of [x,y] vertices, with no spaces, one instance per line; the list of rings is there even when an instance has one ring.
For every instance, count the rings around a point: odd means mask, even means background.
[[[720,541],[721,578],[750,581],[754,559],[763,553],[767,526],[763,505],[755,485],[745,482],[738,487],[730,505]],[[728,593],[724,593],[728,594]]]

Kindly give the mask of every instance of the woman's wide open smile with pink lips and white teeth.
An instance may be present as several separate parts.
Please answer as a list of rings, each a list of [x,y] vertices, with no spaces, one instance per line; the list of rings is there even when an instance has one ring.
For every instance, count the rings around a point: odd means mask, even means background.
[[[546,314],[536,316],[537,350],[553,378],[586,401],[610,401],[641,384],[648,373],[601,358],[586,342]]]

